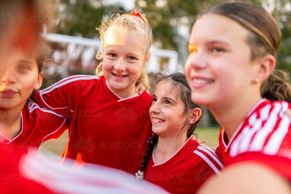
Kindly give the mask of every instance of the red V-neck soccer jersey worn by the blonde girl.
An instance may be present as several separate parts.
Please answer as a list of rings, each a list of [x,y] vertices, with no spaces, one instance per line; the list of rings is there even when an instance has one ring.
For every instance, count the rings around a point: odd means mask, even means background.
[[[34,100],[71,120],[65,157],[137,172],[152,133],[151,95],[121,99],[104,76],[77,75],[38,92]]]

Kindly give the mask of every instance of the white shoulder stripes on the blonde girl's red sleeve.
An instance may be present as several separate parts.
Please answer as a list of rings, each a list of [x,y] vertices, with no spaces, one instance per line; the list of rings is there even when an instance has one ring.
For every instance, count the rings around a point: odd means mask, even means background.
[[[47,94],[49,92],[51,92],[52,90],[56,89],[56,88],[59,88],[61,86],[64,86],[68,83],[71,83],[73,81],[79,81],[79,80],[91,80],[91,79],[99,79],[99,76],[93,76],[93,75],[77,75],[77,76],[70,76],[68,78],[65,78],[55,84],[53,84],[52,86],[44,89],[44,90],[41,90],[40,91],[40,95],[44,95],[44,94]]]

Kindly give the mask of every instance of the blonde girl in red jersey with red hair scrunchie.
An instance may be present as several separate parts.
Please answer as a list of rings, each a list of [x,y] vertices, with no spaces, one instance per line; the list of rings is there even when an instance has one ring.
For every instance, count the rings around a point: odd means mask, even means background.
[[[104,76],[77,75],[38,92],[35,101],[71,122],[65,158],[106,165],[134,174],[151,134],[151,95],[146,64],[152,30],[140,13],[113,14],[98,28]]]

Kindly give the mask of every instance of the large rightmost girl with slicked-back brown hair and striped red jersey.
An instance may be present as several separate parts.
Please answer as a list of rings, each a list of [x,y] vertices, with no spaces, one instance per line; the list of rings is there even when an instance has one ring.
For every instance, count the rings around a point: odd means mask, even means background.
[[[274,70],[280,43],[272,15],[253,3],[215,6],[192,28],[191,99],[224,128],[225,175],[233,175],[208,193],[290,192],[291,90],[287,74]]]

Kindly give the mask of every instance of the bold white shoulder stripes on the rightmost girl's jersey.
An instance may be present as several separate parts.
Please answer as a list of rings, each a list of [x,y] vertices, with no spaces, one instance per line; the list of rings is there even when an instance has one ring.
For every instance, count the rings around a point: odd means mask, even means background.
[[[244,152],[262,152],[275,155],[290,130],[290,116],[286,114],[288,102],[269,102],[259,105],[249,115],[237,137],[230,143],[229,155]]]

